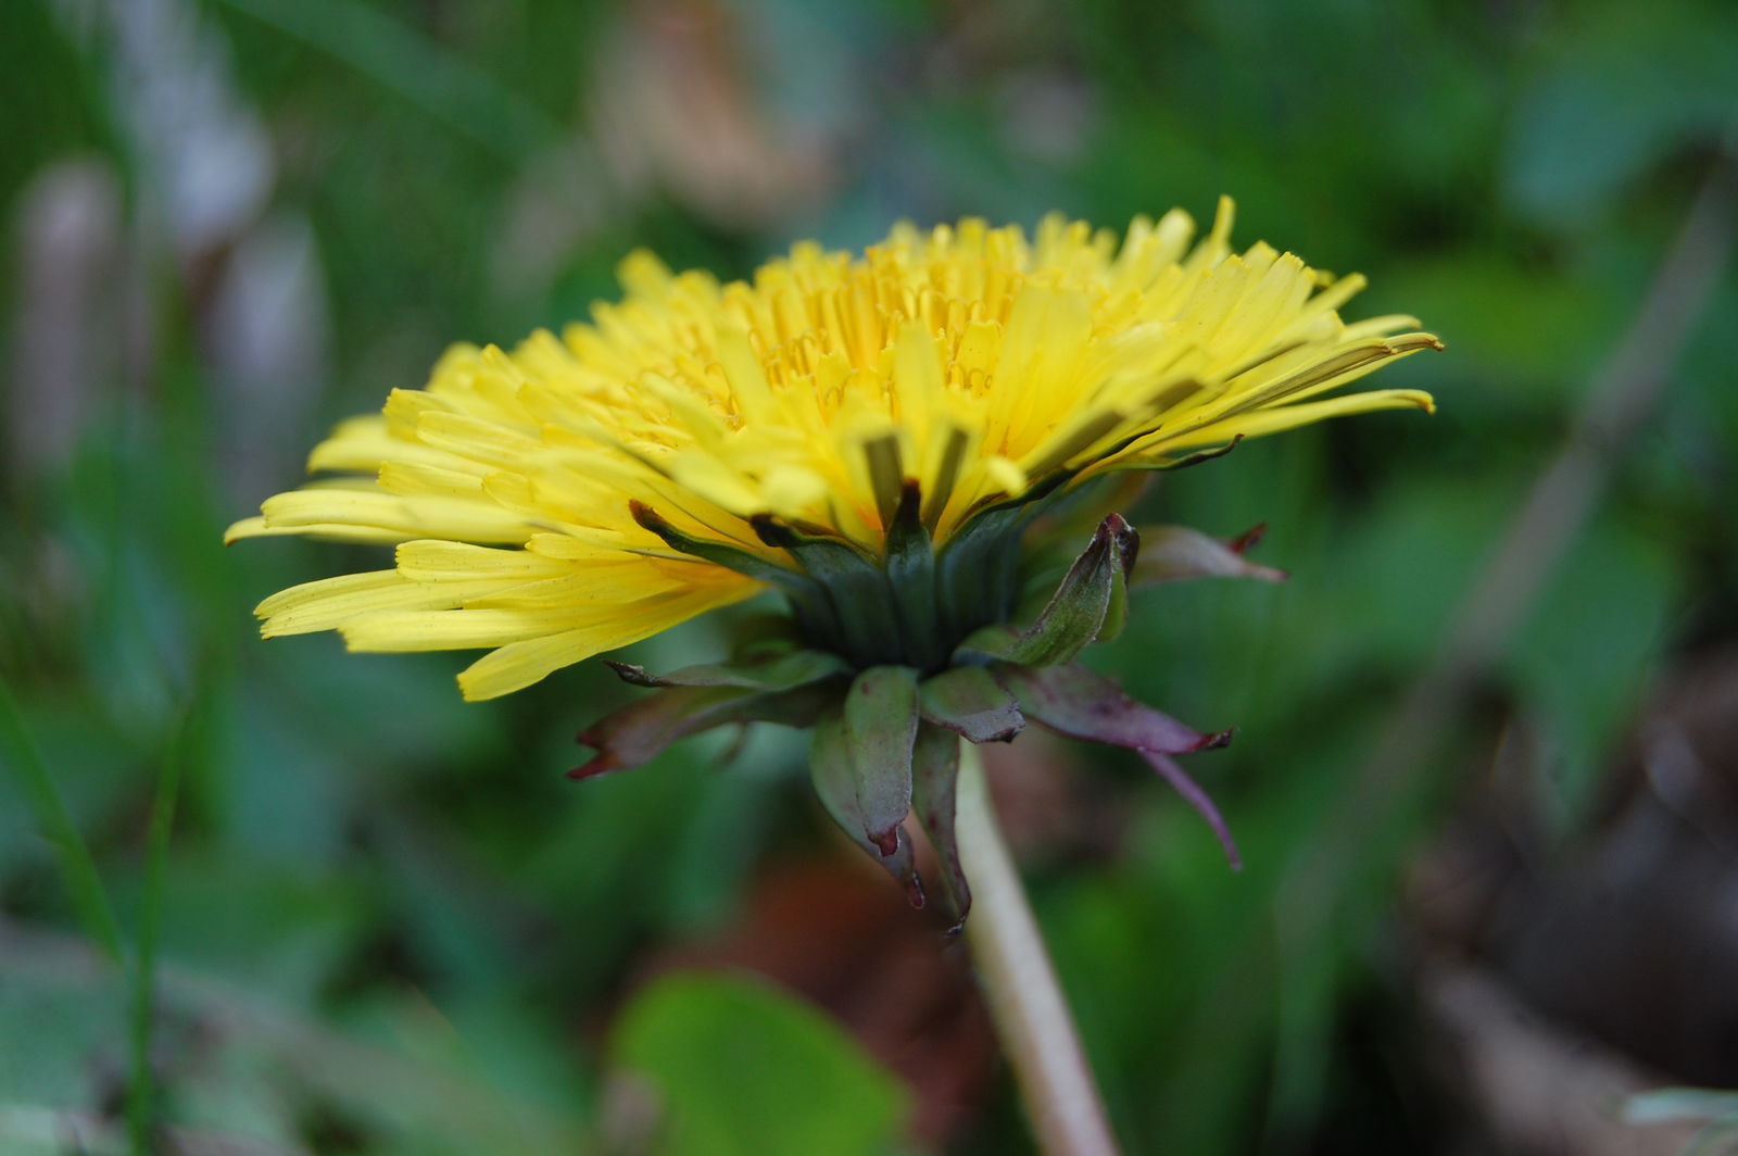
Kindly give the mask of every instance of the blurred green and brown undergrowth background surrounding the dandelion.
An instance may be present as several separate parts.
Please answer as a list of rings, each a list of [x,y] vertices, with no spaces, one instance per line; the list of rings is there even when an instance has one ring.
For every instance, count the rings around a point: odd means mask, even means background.
[[[0,1153],[1029,1151],[791,735],[568,784],[598,664],[466,706],[462,655],[264,645],[377,555],[217,542],[636,245],[1220,193],[1449,351],[1382,381],[1437,417],[1135,511],[1295,575],[1152,591],[1095,659],[1239,727],[1194,770],[1246,871],[1131,758],[996,753],[1126,1151],[1675,1151],[1615,1106],[1738,1085],[1735,108],[1726,0],[5,0]]]

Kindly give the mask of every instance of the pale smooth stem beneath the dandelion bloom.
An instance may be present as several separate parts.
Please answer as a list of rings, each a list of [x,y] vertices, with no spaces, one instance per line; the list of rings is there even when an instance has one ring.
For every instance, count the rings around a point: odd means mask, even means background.
[[[1057,972],[996,826],[984,765],[973,744],[959,746],[954,824],[972,881],[966,942],[1032,1132],[1048,1156],[1116,1156]]]

